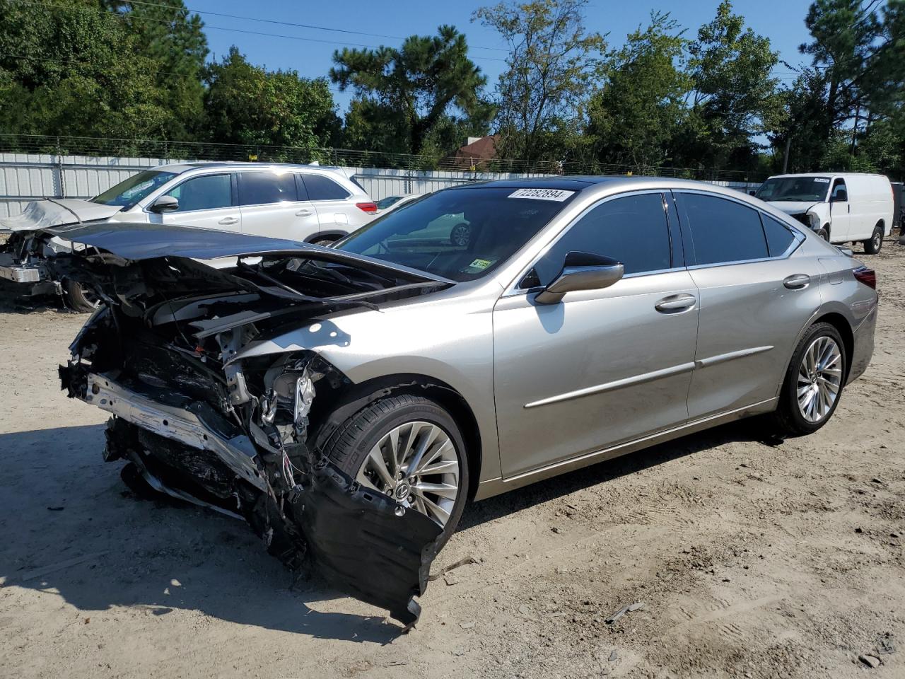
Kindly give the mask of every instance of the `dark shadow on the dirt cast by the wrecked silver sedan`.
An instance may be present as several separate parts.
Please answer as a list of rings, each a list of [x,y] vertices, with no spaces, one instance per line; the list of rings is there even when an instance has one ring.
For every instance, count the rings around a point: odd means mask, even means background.
[[[3,588],[59,594],[85,617],[116,607],[183,611],[317,638],[390,643],[401,632],[371,616],[329,612],[342,595],[321,580],[293,582],[242,521],[184,502],[138,500],[104,464],[104,426],[0,435],[0,578]],[[747,423],[719,427],[473,503],[462,530],[617,476],[733,440]],[[367,574],[366,574],[367,575]],[[325,602],[319,608],[315,602]],[[176,613],[176,615],[180,615]]]

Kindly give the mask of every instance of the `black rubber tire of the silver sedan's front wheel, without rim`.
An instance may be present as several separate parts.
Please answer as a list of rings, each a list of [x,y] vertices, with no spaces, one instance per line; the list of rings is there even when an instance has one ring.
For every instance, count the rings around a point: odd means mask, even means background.
[[[410,486],[413,494],[409,495],[409,501],[405,501],[413,502],[414,511],[425,513],[433,521],[443,524],[443,532],[437,538],[434,546],[435,552],[440,551],[446,541],[452,536],[453,531],[455,531],[459,519],[462,518],[462,510],[465,508],[469,488],[468,455],[465,453],[462,434],[452,416],[443,407],[428,398],[409,394],[380,398],[358,411],[355,415],[350,416],[348,420],[338,426],[336,431],[329,436],[323,449],[334,464],[337,464],[343,472],[348,473],[363,485],[375,488],[381,493],[394,494],[392,489],[387,490],[386,482],[379,480],[372,460],[368,459],[371,450],[376,445],[381,444],[382,440],[394,430],[397,431],[396,441],[404,448],[404,442],[408,440],[408,434],[412,430],[416,432],[414,439],[416,444],[424,441],[423,438],[420,438],[421,436],[435,436],[433,442],[428,445],[427,454],[435,454],[439,448],[443,448],[445,449],[444,457],[435,463],[426,464],[426,467],[430,468],[441,463],[446,466],[452,466],[452,459],[455,459],[458,463],[457,492],[454,499],[443,498],[430,493],[419,496],[417,494],[419,492],[416,490],[418,484],[413,483]],[[452,452],[446,448],[445,444],[438,445],[439,442],[443,441],[443,435],[447,437],[446,440],[452,445]],[[388,451],[386,446],[389,440],[382,444],[381,451]],[[411,447],[417,448],[417,445]],[[405,450],[403,453],[405,454]],[[386,454],[382,455],[382,457],[387,463]],[[450,459],[446,460],[445,457]],[[399,466],[405,466],[406,460],[411,462],[410,457],[404,457],[404,464]],[[424,461],[424,458],[422,460]],[[385,464],[385,469],[387,472],[391,472],[392,463]],[[363,475],[365,477],[364,480],[362,478]],[[396,483],[399,483],[399,485],[395,486],[395,493],[405,493],[405,489],[409,487],[408,479],[399,479],[398,475],[396,476]],[[411,478],[414,478],[414,476]],[[443,475],[427,474],[418,478],[420,479],[419,483],[452,483],[452,473],[444,473]],[[399,502],[399,497],[396,496],[396,498],[397,502]],[[450,500],[452,502],[449,502]],[[417,504],[419,501],[420,506]],[[427,509],[428,501],[432,502],[438,510],[448,512],[448,518],[446,518],[444,523],[443,521],[438,521],[436,514],[432,514]],[[441,505],[443,506],[441,507]]]

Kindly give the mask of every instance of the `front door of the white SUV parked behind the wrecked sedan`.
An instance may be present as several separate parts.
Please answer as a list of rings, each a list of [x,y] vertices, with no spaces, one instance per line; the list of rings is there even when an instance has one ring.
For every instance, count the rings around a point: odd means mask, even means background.
[[[187,177],[166,196],[179,201],[173,212],[148,213],[148,220],[163,224],[200,226],[220,231],[242,231],[242,214],[236,205],[233,175],[222,172]]]

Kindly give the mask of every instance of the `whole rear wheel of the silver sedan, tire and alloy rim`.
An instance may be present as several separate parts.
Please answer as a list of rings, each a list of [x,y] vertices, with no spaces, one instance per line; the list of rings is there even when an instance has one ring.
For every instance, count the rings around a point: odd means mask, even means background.
[[[829,323],[815,323],[798,342],[786,370],[774,419],[783,435],[813,434],[833,416],[843,393],[843,339]]]

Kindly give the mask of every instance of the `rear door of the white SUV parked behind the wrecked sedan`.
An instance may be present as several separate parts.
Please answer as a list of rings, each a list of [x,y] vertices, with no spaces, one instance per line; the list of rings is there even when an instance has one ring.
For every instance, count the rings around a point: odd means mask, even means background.
[[[296,241],[318,235],[318,213],[298,186],[294,172],[237,173],[243,232]]]

